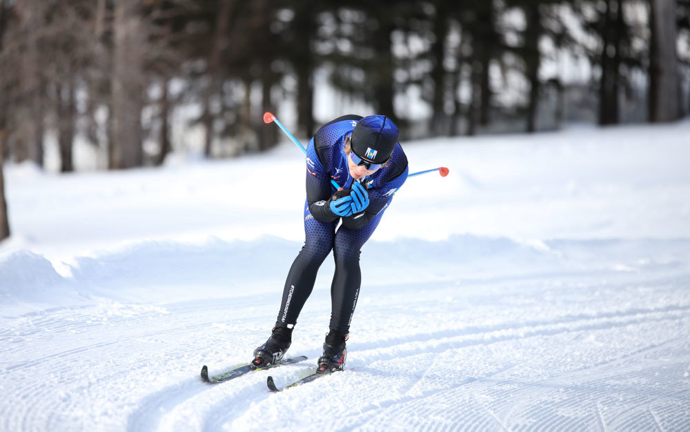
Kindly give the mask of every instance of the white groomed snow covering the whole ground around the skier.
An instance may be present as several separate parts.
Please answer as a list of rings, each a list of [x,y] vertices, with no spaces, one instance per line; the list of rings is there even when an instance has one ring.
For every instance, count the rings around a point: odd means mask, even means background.
[[[327,259],[290,355],[209,385],[275,321],[303,155],[52,175],[6,166],[0,431],[690,429],[690,123],[403,142],[362,250],[346,370],[315,369]]]

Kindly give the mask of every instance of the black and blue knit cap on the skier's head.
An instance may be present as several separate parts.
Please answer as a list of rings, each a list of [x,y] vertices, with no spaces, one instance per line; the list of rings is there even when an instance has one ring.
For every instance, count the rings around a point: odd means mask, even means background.
[[[397,126],[391,119],[385,115],[370,115],[357,122],[350,147],[365,161],[383,164],[391,157],[397,137]]]

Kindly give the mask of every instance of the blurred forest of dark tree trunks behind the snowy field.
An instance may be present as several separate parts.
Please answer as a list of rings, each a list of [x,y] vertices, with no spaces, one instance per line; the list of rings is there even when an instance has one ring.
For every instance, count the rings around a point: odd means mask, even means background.
[[[689,107],[690,0],[0,0],[0,239],[3,161],[237,157],[277,143],[265,111],[299,137],[383,114],[409,140]]]

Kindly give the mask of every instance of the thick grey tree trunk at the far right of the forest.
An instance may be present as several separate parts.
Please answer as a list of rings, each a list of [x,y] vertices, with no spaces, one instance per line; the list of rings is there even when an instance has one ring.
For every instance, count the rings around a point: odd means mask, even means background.
[[[678,106],[676,1],[651,0],[649,15],[649,121],[675,121]]]

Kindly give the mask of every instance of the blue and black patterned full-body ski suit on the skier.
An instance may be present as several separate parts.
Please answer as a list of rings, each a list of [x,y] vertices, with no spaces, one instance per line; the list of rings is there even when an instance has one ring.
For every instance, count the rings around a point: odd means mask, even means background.
[[[373,234],[391,204],[393,193],[402,186],[408,174],[407,157],[398,143],[386,166],[359,180],[368,188],[368,207],[361,213],[342,218],[331,213],[326,205],[336,190],[331,179],[346,190],[353,182],[344,141],[360,119],[362,116],[359,115],[334,119],[322,126],[309,141],[304,208],[306,241],[285,281],[278,324],[297,322],[299,312],[314,288],[319,267],[333,251],[335,275],[331,284],[330,328],[343,333],[350,328],[362,282],[360,249]],[[339,219],[342,219],[342,224],[337,228]]]

